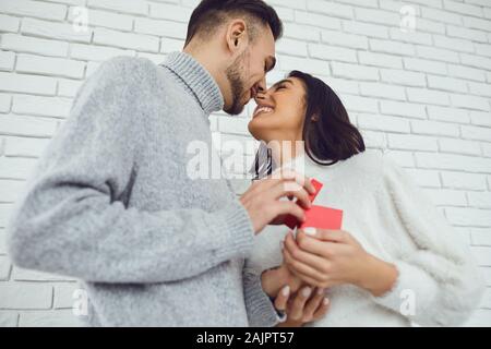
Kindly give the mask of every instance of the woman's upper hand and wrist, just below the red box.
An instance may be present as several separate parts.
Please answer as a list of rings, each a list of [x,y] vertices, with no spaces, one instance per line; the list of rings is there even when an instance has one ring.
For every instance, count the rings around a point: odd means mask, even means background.
[[[330,288],[351,284],[382,296],[392,289],[397,269],[369,254],[347,231],[299,230],[287,234],[283,250],[288,268],[306,284]]]

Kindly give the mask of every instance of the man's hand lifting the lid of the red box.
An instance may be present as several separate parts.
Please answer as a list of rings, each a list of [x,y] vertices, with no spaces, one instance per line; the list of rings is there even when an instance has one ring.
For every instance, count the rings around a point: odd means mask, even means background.
[[[309,194],[315,189],[310,180],[294,171],[255,181],[240,197],[240,202],[248,210],[254,232],[259,233],[266,225],[278,217],[294,215],[300,221],[304,220],[304,208],[312,205]],[[280,201],[282,197],[297,197],[297,203]]]

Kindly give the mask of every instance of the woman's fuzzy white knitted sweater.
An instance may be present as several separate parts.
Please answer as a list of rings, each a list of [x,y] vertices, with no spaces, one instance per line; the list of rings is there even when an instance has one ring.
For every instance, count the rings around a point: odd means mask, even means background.
[[[454,326],[478,306],[483,281],[466,242],[387,156],[368,151],[320,166],[302,155],[284,167],[324,183],[314,204],[343,209],[343,230],[399,273],[383,297],[352,285],[331,288],[330,312],[310,325]],[[287,231],[268,226],[256,237],[252,267],[261,272],[282,264],[279,242]]]

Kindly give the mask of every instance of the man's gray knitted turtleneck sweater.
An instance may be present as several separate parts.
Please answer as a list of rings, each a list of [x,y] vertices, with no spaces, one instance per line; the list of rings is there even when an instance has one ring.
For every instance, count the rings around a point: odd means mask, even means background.
[[[223,105],[187,53],[103,63],[17,202],[14,263],[82,280],[92,326],[274,325],[247,210],[226,179],[187,173]]]

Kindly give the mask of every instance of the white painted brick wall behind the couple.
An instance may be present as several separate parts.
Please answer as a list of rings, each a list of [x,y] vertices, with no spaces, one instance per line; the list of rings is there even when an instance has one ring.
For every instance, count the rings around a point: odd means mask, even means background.
[[[8,216],[86,76],[118,55],[161,61],[196,2],[0,0],[0,326],[76,325],[74,280],[12,266]],[[286,25],[270,80],[303,69],[331,84],[369,147],[388,149],[431,194],[487,279],[469,324],[491,325],[491,0],[268,2]],[[400,29],[403,5],[414,33]],[[74,27],[80,7],[87,31]],[[252,108],[212,116],[212,131],[246,142]]]

